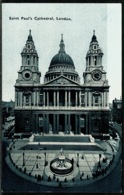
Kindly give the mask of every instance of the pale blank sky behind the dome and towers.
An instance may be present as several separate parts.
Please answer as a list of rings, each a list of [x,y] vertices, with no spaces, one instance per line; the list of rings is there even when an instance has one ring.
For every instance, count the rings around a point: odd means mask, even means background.
[[[122,21],[121,4],[9,3],[2,4],[2,100],[15,99],[14,85],[21,66],[21,51],[29,30],[39,56],[41,83],[51,59],[59,51],[63,34],[65,51],[74,61],[81,83],[86,53],[93,35],[102,48],[103,67],[110,85],[109,102],[121,97]],[[35,18],[53,17],[54,20]],[[70,20],[56,20],[66,17]],[[12,19],[18,18],[18,19]],[[28,18],[28,20],[24,19]]]

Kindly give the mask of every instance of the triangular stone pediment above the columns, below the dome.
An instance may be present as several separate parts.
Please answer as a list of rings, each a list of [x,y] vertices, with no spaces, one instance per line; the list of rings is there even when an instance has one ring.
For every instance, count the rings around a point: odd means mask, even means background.
[[[45,83],[45,85],[55,85],[55,86],[58,86],[58,85],[70,85],[70,86],[79,86],[80,84],[77,83],[77,82],[75,82],[75,81],[72,81],[71,79],[69,79],[69,78],[67,78],[65,76],[59,76],[59,77],[55,78],[54,80]]]

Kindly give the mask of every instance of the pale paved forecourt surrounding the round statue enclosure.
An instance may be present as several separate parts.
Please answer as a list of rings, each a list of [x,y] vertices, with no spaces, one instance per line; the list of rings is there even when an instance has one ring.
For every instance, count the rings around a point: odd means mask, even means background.
[[[67,182],[74,183],[74,181],[84,183],[89,183],[90,181],[95,181],[94,174],[102,174],[105,176],[106,171],[109,168],[110,162],[113,159],[113,154],[118,150],[119,140],[109,140],[109,141],[96,141],[96,145],[100,145],[102,150],[64,150],[64,155],[66,158],[74,160],[74,170],[68,175],[57,175],[50,170],[50,162],[58,158],[60,155],[60,148],[58,148],[57,143],[56,149],[52,149],[52,144],[45,143],[46,146],[50,146],[49,150],[46,147],[41,148],[41,143],[34,144],[28,140],[17,140],[11,144],[9,149],[9,157],[7,157],[7,162],[9,167],[13,167],[15,173],[21,174],[22,177],[26,177],[33,182],[39,182],[45,185],[57,185],[57,182]],[[43,144],[43,142],[42,142]],[[67,144],[67,143],[66,143]],[[74,146],[84,146],[86,143],[68,143]],[[93,144],[93,143],[87,143]],[[27,148],[27,146],[32,145],[32,148]],[[33,146],[39,146],[37,149],[33,149]],[[62,144],[64,146],[64,143]],[[61,145],[61,148],[63,148]],[[51,149],[51,150],[50,150]],[[104,151],[104,153],[103,153]],[[28,177],[27,177],[28,176]],[[38,177],[41,179],[38,181]],[[98,178],[97,178],[98,179]],[[49,182],[51,181],[51,182]],[[73,184],[76,185],[76,182]]]

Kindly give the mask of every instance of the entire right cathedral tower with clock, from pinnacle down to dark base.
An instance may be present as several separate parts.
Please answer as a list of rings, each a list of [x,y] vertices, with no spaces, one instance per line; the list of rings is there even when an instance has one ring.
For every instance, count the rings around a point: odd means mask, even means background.
[[[86,54],[84,78],[85,107],[89,108],[92,134],[107,133],[109,126],[109,85],[102,65],[103,51],[95,31]]]

